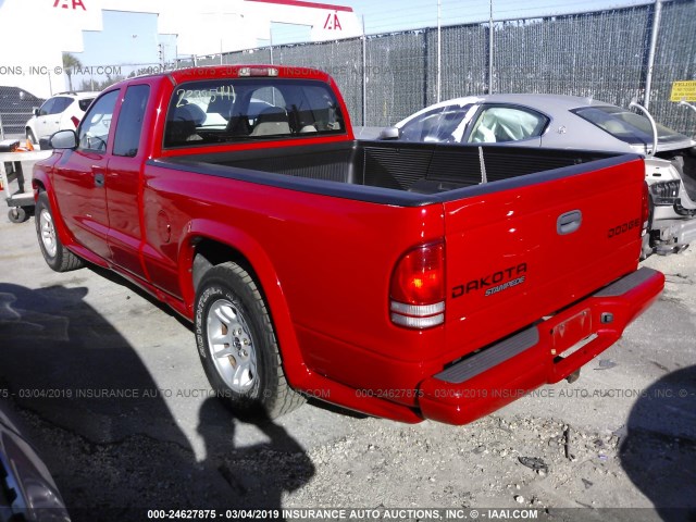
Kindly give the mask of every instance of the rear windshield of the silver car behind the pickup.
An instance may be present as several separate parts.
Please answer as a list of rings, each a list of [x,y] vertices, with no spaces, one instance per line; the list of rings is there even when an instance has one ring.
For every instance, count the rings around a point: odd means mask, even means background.
[[[620,107],[611,105],[585,107],[575,109],[572,112],[626,144],[652,142],[650,121],[643,114],[636,114]],[[679,134],[659,123],[657,124],[657,135],[659,142],[688,139],[683,134]]]

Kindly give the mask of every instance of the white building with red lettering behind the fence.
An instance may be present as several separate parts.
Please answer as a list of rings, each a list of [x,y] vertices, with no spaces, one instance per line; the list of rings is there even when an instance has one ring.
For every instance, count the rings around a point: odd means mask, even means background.
[[[104,11],[157,14],[158,36],[175,35],[178,57],[268,45],[273,23],[306,26],[313,41],[362,33],[351,8],[300,0],[0,0],[0,85],[44,98],[66,90],[62,53],[84,52],[84,32],[102,30]],[[157,38],[139,45],[157,53]]]

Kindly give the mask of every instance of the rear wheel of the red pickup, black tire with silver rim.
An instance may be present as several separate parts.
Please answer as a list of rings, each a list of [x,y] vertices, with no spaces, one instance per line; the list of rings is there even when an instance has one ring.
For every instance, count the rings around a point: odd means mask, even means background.
[[[263,296],[237,263],[219,264],[202,276],[195,324],[208,381],[233,411],[275,419],[304,402],[285,378]],[[220,343],[212,344],[213,338]]]

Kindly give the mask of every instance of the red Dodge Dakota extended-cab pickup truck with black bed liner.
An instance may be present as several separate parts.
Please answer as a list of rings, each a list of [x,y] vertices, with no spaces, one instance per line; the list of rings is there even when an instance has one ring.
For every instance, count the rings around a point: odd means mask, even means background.
[[[194,323],[211,386],[462,424],[574,377],[657,298],[633,154],[357,141],[334,80],[220,66],[104,90],[34,171],[57,271]]]

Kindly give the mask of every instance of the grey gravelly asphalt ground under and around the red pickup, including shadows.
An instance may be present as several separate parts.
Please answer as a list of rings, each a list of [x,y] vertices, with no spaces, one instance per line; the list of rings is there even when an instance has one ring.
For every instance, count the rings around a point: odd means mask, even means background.
[[[240,508],[298,520],[316,513],[282,510],[696,520],[696,253],[643,264],[667,275],[663,295],[573,384],[467,426],[316,400],[254,423],[212,397],[185,321],[100,269],[52,272],[34,219],[3,216],[0,396],[73,520],[152,520],[151,509],[216,509],[221,520]],[[468,511],[423,511],[436,508]]]

